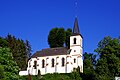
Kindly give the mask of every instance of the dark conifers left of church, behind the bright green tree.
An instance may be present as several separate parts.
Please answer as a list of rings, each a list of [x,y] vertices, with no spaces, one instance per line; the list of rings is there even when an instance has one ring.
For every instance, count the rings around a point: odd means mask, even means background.
[[[26,69],[27,60],[31,56],[31,46],[29,41],[26,42],[22,39],[17,39],[15,36],[10,34],[7,35],[6,41],[8,42],[8,47],[10,48],[14,60],[17,62],[21,70]]]

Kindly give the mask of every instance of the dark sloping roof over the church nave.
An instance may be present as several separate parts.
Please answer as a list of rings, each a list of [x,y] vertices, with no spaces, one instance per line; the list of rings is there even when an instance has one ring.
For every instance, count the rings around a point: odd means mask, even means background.
[[[66,54],[69,54],[70,51],[71,50],[65,47],[42,49],[41,51],[37,51],[36,53],[34,53],[31,56],[31,58],[54,56],[54,55],[66,55]]]

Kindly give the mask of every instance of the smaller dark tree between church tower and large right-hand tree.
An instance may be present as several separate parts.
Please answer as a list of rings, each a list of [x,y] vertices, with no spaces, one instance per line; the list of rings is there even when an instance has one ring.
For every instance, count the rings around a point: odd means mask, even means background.
[[[96,65],[96,55],[92,53],[84,53],[84,73],[83,73],[83,79],[84,80],[94,80],[95,79],[95,65]]]

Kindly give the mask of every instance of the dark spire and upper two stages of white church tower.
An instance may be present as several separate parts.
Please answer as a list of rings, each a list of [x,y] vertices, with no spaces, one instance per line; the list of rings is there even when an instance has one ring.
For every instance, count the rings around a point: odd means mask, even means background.
[[[79,31],[78,19],[75,18],[73,33],[70,36],[70,49],[73,51],[72,55],[82,56],[82,35]]]

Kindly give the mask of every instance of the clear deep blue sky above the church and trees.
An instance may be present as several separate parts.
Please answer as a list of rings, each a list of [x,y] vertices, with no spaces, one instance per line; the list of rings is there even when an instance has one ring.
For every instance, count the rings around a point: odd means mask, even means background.
[[[120,36],[120,0],[0,0],[0,36],[29,40],[34,53],[49,48],[52,28],[73,29],[76,16],[84,52],[94,53],[105,36]]]

